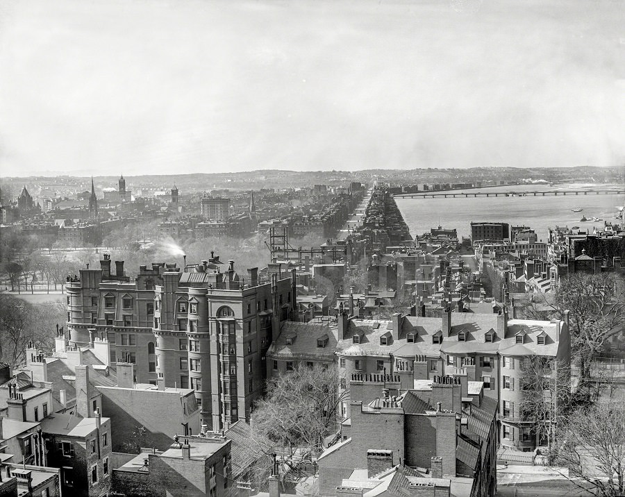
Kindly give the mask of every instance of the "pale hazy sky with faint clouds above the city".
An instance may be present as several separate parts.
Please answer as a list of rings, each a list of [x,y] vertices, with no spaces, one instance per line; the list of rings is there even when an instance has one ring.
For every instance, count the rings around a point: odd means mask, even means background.
[[[0,174],[625,164],[625,0],[0,0]]]

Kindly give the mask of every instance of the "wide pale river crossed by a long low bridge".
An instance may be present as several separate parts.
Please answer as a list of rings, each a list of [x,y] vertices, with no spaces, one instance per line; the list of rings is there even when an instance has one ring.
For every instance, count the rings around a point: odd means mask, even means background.
[[[617,185],[514,185],[490,187],[458,192],[547,192],[566,189],[599,189]],[[456,193],[456,192],[454,192]],[[538,239],[547,242],[549,228],[556,226],[579,226],[580,230],[592,233],[594,226],[602,227],[603,221],[581,222],[582,216],[599,217],[617,222],[614,214],[617,205],[622,206],[625,197],[616,194],[551,195],[551,196],[497,196],[456,197],[435,199],[405,199],[396,197],[397,207],[410,228],[412,236],[422,235],[431,228],[456,228],[458,237],[471,235],[471,221],[497,221],[510,226],[525,225],[535,230]],[[572,212],[582,208],[581,212]]]

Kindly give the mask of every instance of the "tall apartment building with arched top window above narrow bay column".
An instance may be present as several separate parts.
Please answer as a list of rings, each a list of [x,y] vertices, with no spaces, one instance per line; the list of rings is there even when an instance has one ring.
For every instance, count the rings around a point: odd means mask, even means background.
[[[194,389],[201,418],[214,430],[249,420],[263,394],[265,354],[296,300],[294,273],[265,283],[257,268],[241,278],[234,261],[222,265],[211,253],[190,272],[168,267],[154,301],[158,378]]]

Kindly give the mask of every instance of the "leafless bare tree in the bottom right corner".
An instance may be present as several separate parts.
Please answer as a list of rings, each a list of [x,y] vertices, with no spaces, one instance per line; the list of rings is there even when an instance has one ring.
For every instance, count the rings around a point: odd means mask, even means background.
[[[595,496],[625,494],[624,419],[623,403],[597,404],[574,412],[561,427],[557,462]]]

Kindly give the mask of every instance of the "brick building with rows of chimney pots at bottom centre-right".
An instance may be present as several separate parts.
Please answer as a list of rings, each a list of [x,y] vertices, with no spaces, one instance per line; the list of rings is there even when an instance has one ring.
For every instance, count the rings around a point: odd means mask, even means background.
[[[401,471],[431,478],[419,483],[440,487],[443,493],[433,496],[448,495],[448,488],[453,495],[493,497],[497,402],[484,396],[481,388],[469,393],[466,375],[437,376],[431,396],[410,389],[400,392],[400,385],[399,376],[352,376],[351,417],[342,423],[342,441],[317,460],[319,493],[342,495],[344,487],[364,489],[362,480],[407,466]],[[356,480],[352,475],[365,468],[360,485],[344,484]]]

